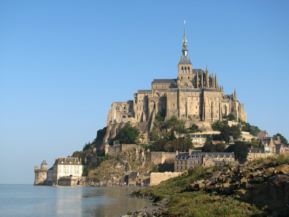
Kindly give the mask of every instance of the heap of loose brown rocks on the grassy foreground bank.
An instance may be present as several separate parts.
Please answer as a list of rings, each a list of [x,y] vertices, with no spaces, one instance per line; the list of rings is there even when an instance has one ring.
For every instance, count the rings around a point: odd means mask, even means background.
[[[285,204],[289,200],[289,163],[275,167],[258,163],[247,169],[242,166],[225,168],[194,181],[185,191],[239,196],[264,193],[275,200],[284,201]]]

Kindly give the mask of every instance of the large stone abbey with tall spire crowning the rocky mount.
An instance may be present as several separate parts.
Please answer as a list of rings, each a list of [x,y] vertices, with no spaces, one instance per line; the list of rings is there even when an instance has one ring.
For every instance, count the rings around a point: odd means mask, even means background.
[[[150,90],[138,90],[133,100],[113,102],[107,118],[104,142],[113,138],[123,123],[137,123],[142,132],[149,132],[154,116],[165,112],[165,120],[173,115],[184,121],[222,121],[223,115],[234,114],[236,120],[247,121],[244,105],[238,101],[236,90],[224,94],[217,74],[208,68],[193,69],[187,49],[184,28],[183,54],[178,63],[176,79],[154,79]]]

